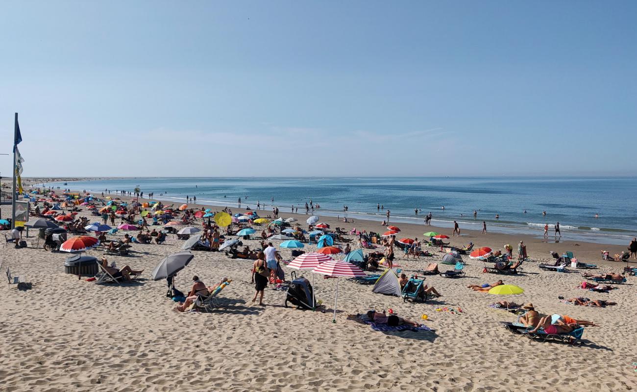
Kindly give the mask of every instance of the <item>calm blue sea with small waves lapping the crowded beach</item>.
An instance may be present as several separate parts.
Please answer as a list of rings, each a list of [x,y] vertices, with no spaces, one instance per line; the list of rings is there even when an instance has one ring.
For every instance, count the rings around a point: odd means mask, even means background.
[[[489,231],[541,236],[545,223],[553,228],[560,222],[562,239],[617,244],[637,234],[635,177],[120,178],[66,185],[92,192],[136,186],[175,203],[197,196],[197,203],[225,205],[241,197],[242,208],[259,201],[268,210],[276,205],[285,213],[294,205],[301,213],[312,200],[323,215],[342,217],[347,206],[348,217],[378,221],[389,209],[393,222],[422,224],[431,211],[434,226],[442,227],[455,220],[461,228],[480,230],[486,221]]]

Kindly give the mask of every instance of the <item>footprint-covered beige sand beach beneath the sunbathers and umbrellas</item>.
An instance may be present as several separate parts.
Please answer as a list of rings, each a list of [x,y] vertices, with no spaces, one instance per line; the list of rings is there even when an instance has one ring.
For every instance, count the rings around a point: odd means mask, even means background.
[[[192,205],[191,205],[192,207]],[[234,206],[233,211],[236,210]],[[213,208],[214,210],[215,208]],[[2,206],[2,215],[10,206]],[[89,215],[85,210],[80,215]],[[260,212],[268,215],[268,212]],[[282,208],[283,217],[292,217]],[[305,226],[307,215],[300,215]],[[97,221],[97,217],[89,217]],[[117,220],[117,224],[119,223]],[[345,224],[335,218],[325,221],[350,229],[380,231],[378,222]],[[197,225],[201,224],[201,220]],[[399,238],[417,236],[434,229],[450,235],[449,229],[422,225],[399,225]],[[8,232],[7,232],[8,233]],[[31,284],[20,290],[0,285],[0,390],[3,391],[538,391],[596,390],[629,391],[637,385],[633,362],[637,361],[637,278],[610,293],[576,288],[581,270],[547,272],[538,263],[548,251],[571,250],[594,272],[621,272],[624,263],[602,262],[599,249],[612,253],[626,247],[589,243],[545,243],[531,237],[462,232],[453,245],[499,249],[505,243],[527,243],[534,262],[525,263],[518,275],[483,273],[483,263],[464,258],[466,277],[447,279],[428,276],[440,298],[427,303],[404,303],[401,298],[371,292],[371,286],[340,279],[336,323],[332,323],[336,279],[315,276],[315,293],[326,312],[283,307],[285,293],[268,286],[265,306],[250,303],[252,261],[230,259],[223,252],[196,251],[193,261],[176,277],[176,286],[188,291],[192,275],[209,286],[222,278],[232,279],[220,294],[222,307],[210,314],[171,309],[166,281],[153,281],[150,272],[164,256],[177,252],[183,243],[169,235],[162,245],[134,244],[129,256],[107,256],[118,267],[144,270],[132,284],[95,284],[85,277],[64,273],[69,254],[29,246],[3,248],[3,270],[20,275]],[[31,235],[34,235],[31,232]],[[120,238],[118,233],[111,238]],[[350,238],[353,238],[350,236]],[[35,242],[29,238],[27,242]],[[245,241],[256,248],[256,240]],[[275,242],[277,245],[280,242]],[[355,248],[355,242],[352,242]],[[306,245],[303,250],[313,250]],[[422,271],[427,263],[440,261],[443,252],[429,258],[396,261],[408,275]],[[280,249],[284,259],[290,250]],[[104,252],[89,250],[100,258]],[[440,269],[453,266],[441,265]],[[283,267],[286,279],[290,270]],[[309,272],[304,276],[310,277]],[[517,296],[494,296],[466,288],[503,279],[524,289]],[[562,303],[557,297],[587,296],[616,301],[602,309]],[[488,305],[496,300],[532,302],[545,314],[566,314],[594,321],[586,327],[581,345],[535,342],[505,330],[500,321],[517,316]],[[436,311],[443,308],[461,312]],[[399,316],[423,323],[433,331],[373,331],[348,321],[348,314],[369,309],[392,309]],[[428,316],[422,320],[422,315]]]

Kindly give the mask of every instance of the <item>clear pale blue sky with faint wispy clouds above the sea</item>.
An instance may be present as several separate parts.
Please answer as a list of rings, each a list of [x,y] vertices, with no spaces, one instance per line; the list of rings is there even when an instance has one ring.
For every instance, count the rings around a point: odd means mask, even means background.
[[[637,1],[13,1],[24,176],[634,174]],[[3,176],[10,157],[0,156]]]

